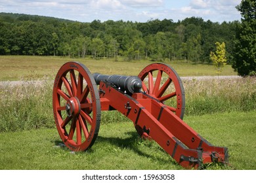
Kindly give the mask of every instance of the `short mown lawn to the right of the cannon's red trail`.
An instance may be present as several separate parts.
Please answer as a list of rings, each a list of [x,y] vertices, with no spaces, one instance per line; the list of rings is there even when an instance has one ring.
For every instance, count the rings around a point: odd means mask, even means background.
[[[230,164],[234,168],[255,170],[255,116],[256,110],[224,112],[201,117],[190,116],[187,121],[207,141],[228,147]]]

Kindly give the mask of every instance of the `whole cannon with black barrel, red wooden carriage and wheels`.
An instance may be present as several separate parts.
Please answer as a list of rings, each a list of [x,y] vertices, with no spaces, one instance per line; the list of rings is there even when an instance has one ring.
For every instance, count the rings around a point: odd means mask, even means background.
[[[138,76],[91,74],[82,63],[60,67],[53,86],[53,114],[60,138],[70,150],[95,143],[102,110],[129,118],[140,137],[156,141],[182,167],[228,162],[228,148],[213,146],[183,120],[185,93],[169,65],[152,63]]]

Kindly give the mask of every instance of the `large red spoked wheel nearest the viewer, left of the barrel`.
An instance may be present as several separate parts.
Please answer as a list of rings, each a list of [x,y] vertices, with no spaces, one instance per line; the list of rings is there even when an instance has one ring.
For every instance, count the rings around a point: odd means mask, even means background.
[[[68,62],[60,67],[53,87],[53,113],[64,144],[72,151],[90,148],[100,128],[100,97],[85,65]]]

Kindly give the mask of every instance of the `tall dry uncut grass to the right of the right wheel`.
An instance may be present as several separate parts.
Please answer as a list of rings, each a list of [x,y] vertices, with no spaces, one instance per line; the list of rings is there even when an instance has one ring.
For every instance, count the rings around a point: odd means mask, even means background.
[[[186,115],[256,109],[256,78],[184,80]]]

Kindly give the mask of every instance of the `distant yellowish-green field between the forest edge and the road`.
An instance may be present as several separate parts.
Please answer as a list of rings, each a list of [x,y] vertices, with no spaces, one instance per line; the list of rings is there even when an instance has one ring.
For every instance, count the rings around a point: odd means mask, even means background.
[[[139,75],[140,71],[152,61],[113,61],[110,59],[71,59],[42,56],[0,56],[0,80],[35,80],[44,76],[54,78],[58,69],[68,61],[79,61],[91,73],[108,75]],[[213,76],[213,65],[192,64],[184,61],[168,61],[180,76]],[[224,67],[221,75],[236,75],[230,65]]]

